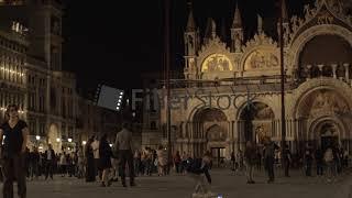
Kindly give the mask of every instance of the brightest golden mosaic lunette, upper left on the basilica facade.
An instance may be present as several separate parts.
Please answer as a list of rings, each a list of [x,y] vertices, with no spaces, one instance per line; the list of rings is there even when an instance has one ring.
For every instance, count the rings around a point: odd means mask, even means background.
[[[222,54],[212,54],[202,63],[202,73],[233,70],[231,61]]]

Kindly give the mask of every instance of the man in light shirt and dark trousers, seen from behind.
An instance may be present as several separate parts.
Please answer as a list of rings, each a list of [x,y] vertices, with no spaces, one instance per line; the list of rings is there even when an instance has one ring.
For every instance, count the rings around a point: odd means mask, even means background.
[[[121,166],[121,182],[122,186],[125,185],[125,164],[129,165],[130,186],[135,186],[134,183],[134,167],[133,167],[133,145],[132,145],[132,132],[129,130],[130,123],[124,122],[122,130],[117,134],[114,147],[118,150],[120,166]]]

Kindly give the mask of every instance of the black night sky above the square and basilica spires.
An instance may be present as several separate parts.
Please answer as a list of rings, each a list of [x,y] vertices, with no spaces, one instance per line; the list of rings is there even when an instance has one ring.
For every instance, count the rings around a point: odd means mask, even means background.
[[[183,69],[183,30],[187,0],[172,1],[172,63]],[[288,0],[297,13],[310,0]],[[103,2],[103,3],[102,3]],[[226,19],[228,34],[237,0],[194,0],[196,23],[202,31],[207,18]],[[64,69],[75,72],[78,86],[95,91],[99,82],[117,88],[140,87],[141,73],[163,69],[164,0],[66,0],[64,15]],[[239,0],[244,30],[256,30],[256,13],[275,18],[275,0]],[[270,30],[271,28],[268,28]],[[273,30],[273,28],[272,28]]]

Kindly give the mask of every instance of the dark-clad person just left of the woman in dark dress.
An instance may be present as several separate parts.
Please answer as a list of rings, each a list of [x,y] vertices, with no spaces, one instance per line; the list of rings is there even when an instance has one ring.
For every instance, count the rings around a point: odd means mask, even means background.
[[[91,147],[95,136],[91,136],[86,144],[85,148],[85,161],[86,161],[86,182],[96,182],[96,169],[95,169],[95,156]]]

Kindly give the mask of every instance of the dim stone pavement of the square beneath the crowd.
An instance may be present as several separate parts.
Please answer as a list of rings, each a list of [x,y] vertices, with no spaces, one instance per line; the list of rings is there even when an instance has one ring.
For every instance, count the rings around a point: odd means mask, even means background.
[[[243,174],[234,175],[230,170],[212,170],[212,191],[222,197],[245,198],[352,198],[352,174],[339,177],[328,184],[322,177],[305,177],[302,172],[293,172],[292,177],[282,177],[276,173],[274,184],[266,184],[264,173],[255,174],[254,185],[248,185]],[[187,176],[142,176],[136,178],[136,187],[123,188],[120,183],[111,187],[99,187],[98,183],[87,184],[77,178],[55,177],[54,180],[34,180],[28,183],[28,198],[190,198],[194,180]],[[1,186],[2,188],[2,186]]]

